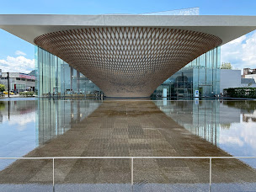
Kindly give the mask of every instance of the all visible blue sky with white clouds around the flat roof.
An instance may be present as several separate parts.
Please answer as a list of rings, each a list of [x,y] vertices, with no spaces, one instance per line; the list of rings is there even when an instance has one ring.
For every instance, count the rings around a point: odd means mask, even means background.
[[[256,15],[256,0],[0,0],[0,14],[152,13],[200,8],[200,15]],[[256,68],[256,31],[221,46],[221,62],[234,69]],[[35,67],[35,46],[0,29],[0,69],[28,73]]]

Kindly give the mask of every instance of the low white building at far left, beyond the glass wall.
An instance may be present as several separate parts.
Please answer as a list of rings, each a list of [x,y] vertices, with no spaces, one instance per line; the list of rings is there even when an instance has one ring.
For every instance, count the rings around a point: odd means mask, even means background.
[[[4,84],[6,90],[8,90],[7,72],[2,72],[0,83]],[[21,72],[9,72],[9,83],[11,91],[35,91],[35,76],[32,75]]]

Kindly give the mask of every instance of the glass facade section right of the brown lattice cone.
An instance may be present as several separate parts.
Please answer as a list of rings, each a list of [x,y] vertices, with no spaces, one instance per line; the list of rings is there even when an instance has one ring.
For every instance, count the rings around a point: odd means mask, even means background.
[[[189,62],[162,83],[152,94],[163,96],[163,88],[168,97],[195,97],[195,90],[200,96],[213,96],[220,93],[221,47],[206,52]]]

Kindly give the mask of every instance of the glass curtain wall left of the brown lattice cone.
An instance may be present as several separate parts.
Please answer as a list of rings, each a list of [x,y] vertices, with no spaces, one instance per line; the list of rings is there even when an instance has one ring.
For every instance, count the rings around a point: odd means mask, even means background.
[[[101,90],[82,73],[59,57],[35,47],[35,68],[39,96],[96,96]]]

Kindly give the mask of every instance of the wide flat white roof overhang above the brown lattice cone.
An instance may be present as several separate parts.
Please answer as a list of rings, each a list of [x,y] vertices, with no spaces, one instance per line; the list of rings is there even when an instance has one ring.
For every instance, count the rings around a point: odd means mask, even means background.
[[[34,44],[47,33],[91,27],[187,29],[216,35],[224,45],[256,29],[256,16],[0,14],[0,28]]]

